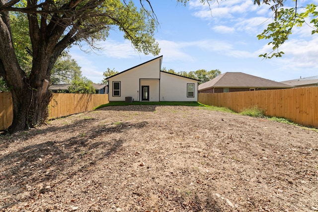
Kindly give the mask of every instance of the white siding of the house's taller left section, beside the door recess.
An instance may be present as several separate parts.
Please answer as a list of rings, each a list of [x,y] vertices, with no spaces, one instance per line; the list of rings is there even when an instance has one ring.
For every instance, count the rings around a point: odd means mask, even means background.
[[[109,101],[125,101],[126,96],[132,96],[134,101],[140,101],[139,79],[159,79],[161,59],[162,57],[109,78]],[[113,81],[121,82],[119,97],[113,96]]]

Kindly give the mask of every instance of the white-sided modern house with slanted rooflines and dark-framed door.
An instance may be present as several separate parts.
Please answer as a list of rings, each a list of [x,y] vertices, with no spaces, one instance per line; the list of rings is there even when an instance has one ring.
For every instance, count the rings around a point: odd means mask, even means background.
[[[109,102],[131,100],[197,102],[199,80],[160,71],[162,57],[107,77]]]

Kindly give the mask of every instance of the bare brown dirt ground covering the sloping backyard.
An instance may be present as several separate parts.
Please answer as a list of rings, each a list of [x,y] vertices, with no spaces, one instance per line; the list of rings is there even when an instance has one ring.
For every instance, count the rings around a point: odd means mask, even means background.
[[[318,211],[318,133],[185,106],[113,106],[0,137],[0,211]]]

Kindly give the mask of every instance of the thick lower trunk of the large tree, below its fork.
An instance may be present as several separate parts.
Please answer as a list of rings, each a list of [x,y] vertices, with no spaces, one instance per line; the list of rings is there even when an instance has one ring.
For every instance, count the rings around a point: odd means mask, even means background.
[[[48,80],[43,80],[38,89],[25,86],[24,89],[13,89],[13,120],[8,128],[9,133],[27,130],[44,124],[48,117],[48,104],[52,93],[48,91]],[[22,98],[21,98],[22,97]]]

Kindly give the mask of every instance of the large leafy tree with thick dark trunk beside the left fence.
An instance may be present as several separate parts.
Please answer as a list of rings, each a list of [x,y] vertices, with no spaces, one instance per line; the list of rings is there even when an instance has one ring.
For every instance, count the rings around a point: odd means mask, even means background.
[[[14,27],[18,22],[27,27]],[[94,48],[110,30],[119,29],[136,51],[158,55],[156,26],[147,0],[139,6],[126,0],[0,0],[0,76],[13,101],[8,131],[46,120],[52,69],[67,47],[86,42]]]

